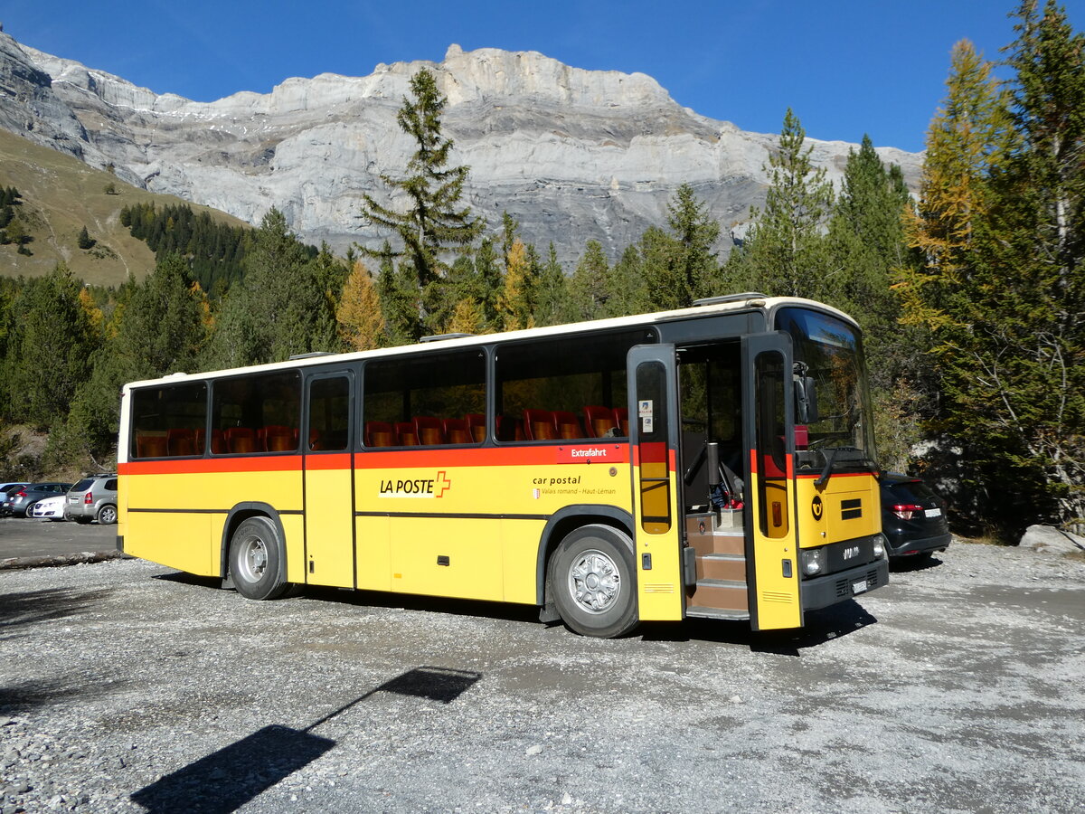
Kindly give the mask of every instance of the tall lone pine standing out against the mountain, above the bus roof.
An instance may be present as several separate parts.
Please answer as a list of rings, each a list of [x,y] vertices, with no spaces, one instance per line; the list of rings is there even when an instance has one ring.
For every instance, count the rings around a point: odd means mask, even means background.
[[[469,251],[483,224],[471,215],[469,206],[460,206],[470,168],[448,166],[452,140],[442,133],[441,125],[448,100],[437,88],[433,72],[422,68],[414,74],[410,90],[413,99],[404,98],[396,120],[418,149],[407,163],[405,178],[381,176],[393,193],[406,196],[407,212],[385,206],[366,194],[363,217],[397,236],[401,245],[394,252],[388,246],[392,253],[387,256],[401,257],[409,264],[423,306],[429,309],[431,303],[441,301],[439,293],[431,289],[439,285],[448,270],[445,257]],[[383,251],[368,253],[380,257],[385,256]],[[422,317],[424,321],[425,313]],[[419,327],[412,333],[419,334],[421,330]]]

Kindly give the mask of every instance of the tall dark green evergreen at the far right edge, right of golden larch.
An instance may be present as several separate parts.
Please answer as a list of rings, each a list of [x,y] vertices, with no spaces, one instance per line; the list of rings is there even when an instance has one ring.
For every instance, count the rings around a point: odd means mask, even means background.
[[[1051,520],[1085,527],[1085,37],[1048,0],[1017,10],[1016,139],[991,183],[990,234],[956,342],[962,430],[1019,473]],[[963,377],[961,377],[962,379]],[[960,381],[955,377],[954,381]],[[1052,505],[1054,504],[1054,505]]]

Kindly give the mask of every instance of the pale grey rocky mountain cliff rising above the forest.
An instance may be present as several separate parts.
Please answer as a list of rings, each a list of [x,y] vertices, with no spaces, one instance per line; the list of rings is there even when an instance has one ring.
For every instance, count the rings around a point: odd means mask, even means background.
[[[682,182],[723,225],[723,251],[730,229],[741,231],[750,206],[764,201],[763,165],[776,136],[698,115],[643,74],[583,71],[535,52],[452,46],[439,63],[291,78],[270,93],[205,103],[156,94],[0,33],[0,127],[248,222],[277,206],[306,242],[343,252],[384,238],[359,219],[362,194],[387,200],[380,174],[399,175],[413,150],[395,116],[423,65],[448,97],[445,131],[456,142],[452,161],[471,167],[475,212],[496,228],[508,211],[527,241],[544,251],[552,241],[565,263],[588,239],[614,257],[649,225],[664,224]],[[839,179],[854,145],[808,143]],[[879,153],[918,178],[919,155]]]

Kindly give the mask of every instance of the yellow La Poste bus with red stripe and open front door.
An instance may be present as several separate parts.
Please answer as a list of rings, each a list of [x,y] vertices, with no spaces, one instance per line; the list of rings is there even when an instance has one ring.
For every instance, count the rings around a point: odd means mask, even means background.
[[[745,293],[127,384],[120,550],[250,599],[540,608],[591,636],[885,585],[861,335]]]

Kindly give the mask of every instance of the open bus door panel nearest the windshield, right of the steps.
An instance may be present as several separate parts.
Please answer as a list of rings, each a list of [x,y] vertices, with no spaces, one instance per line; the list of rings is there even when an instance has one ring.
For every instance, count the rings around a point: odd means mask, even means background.
[[[750,462],[746,581],[755,631],[800,627],[791,338],[742,338],[743,435]]]

